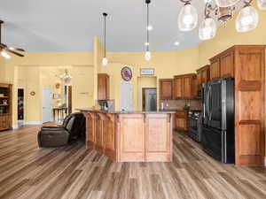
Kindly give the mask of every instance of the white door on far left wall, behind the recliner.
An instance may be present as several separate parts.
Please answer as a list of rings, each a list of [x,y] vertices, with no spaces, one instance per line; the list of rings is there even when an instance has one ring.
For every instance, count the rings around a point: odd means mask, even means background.
[[[43,88],[43,123],[51,122],[51,88]]]

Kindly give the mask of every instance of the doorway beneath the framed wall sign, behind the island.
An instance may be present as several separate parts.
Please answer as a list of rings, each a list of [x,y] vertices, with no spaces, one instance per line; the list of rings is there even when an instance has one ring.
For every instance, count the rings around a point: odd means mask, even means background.
[[[142,111],[157,111],[157,88],[142,88]]]

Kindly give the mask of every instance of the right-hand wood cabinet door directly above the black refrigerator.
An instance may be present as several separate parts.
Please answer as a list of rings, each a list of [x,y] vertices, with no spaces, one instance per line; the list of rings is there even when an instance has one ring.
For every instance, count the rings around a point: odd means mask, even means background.
[[[234,77],[233,52],[229,52],[220,57],[221,77]]]

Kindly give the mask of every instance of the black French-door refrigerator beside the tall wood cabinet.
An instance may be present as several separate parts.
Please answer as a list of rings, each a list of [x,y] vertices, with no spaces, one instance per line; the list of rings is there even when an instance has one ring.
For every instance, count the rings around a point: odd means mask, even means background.
[[[202,86],[202,147],[222,163],[235,162],[234,80],[212,80]]]

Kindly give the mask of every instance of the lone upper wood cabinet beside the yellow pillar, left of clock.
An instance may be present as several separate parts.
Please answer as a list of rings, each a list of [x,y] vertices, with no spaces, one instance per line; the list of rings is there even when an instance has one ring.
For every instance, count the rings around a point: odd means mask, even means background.
[[[109,75],[98,73],[98,100],[109,99]]]

